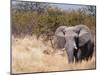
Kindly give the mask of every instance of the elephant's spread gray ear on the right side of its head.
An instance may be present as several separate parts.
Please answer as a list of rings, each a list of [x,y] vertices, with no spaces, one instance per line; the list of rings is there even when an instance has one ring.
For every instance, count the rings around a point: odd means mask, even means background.
[[[86,25],[76,25],[74,27],[74,32],[78,34],[79,47],[85,45],[90,40],[91,33]]]

